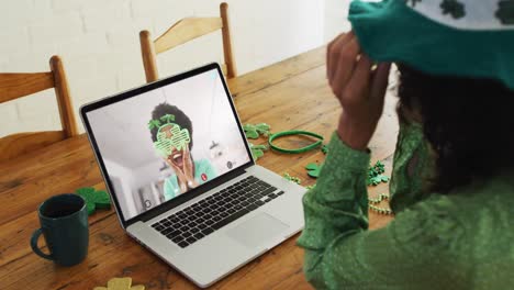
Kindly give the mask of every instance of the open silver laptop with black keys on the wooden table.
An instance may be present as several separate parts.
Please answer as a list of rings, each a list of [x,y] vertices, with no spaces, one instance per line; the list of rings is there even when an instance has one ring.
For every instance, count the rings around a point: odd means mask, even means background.
[[[255,164],[217,64],[88,103],[80,116],[121,226],[197,286],[303,228],[305,189]]]

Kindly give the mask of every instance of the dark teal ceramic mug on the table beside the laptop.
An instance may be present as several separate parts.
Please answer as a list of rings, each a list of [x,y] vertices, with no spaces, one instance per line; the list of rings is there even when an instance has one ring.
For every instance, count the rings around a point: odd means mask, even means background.
[[[62,266],[74,266],[88,255],[88,211],[82,197],[66,193],[52,197],[37,209],[41,228],[32,234],[32,250]],[[43,234],[49,254],[37,247]]]

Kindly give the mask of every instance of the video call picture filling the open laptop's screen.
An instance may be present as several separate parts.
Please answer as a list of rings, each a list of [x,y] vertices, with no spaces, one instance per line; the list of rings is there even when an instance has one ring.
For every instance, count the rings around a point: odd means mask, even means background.
[[[88,112],[125,220],[249,161],[216,70]]]

